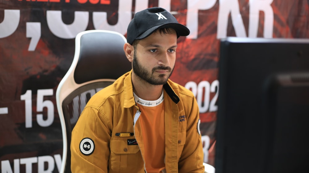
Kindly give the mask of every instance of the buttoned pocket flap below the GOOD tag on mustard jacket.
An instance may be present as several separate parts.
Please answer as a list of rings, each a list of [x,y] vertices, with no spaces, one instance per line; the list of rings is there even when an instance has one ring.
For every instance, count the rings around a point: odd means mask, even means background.
[[[128,145],[128,139],[135,138],[111,138],[110,150],[115,154],[135,154],[139,151],[138,145]]]

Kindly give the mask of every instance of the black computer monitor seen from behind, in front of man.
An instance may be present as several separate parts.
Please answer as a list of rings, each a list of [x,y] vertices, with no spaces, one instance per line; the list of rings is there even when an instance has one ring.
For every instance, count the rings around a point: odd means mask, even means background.
[[[309,171],[309,39],[220,42],[216,173]]]

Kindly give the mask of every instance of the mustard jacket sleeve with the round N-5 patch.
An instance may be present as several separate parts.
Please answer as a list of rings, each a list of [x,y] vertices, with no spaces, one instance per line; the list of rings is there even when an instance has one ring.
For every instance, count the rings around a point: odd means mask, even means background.
[[[83,110],[72,131],[70,146],[72,173],[108,172],[112,128],[107,120],[98,109],[86,107]]]

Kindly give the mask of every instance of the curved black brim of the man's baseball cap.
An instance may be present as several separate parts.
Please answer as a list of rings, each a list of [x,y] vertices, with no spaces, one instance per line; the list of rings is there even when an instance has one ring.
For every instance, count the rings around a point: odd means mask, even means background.
[[[136,39],[144,39],[160,28],[172,28],[176,31],[178,37],[187,36],[190,34],[190,30],[180,23],[167,23],[149,28],[142,35],[138,36]]]

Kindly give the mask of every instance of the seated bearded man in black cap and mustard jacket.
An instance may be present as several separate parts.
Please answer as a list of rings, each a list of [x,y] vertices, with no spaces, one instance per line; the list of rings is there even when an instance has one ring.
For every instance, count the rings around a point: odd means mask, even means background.
[[[72,132],[72,172],[204,172],[196,99],[168,79],[188,34],[163,8],[134,15],[124,45],[133,69],[88,101]]]

